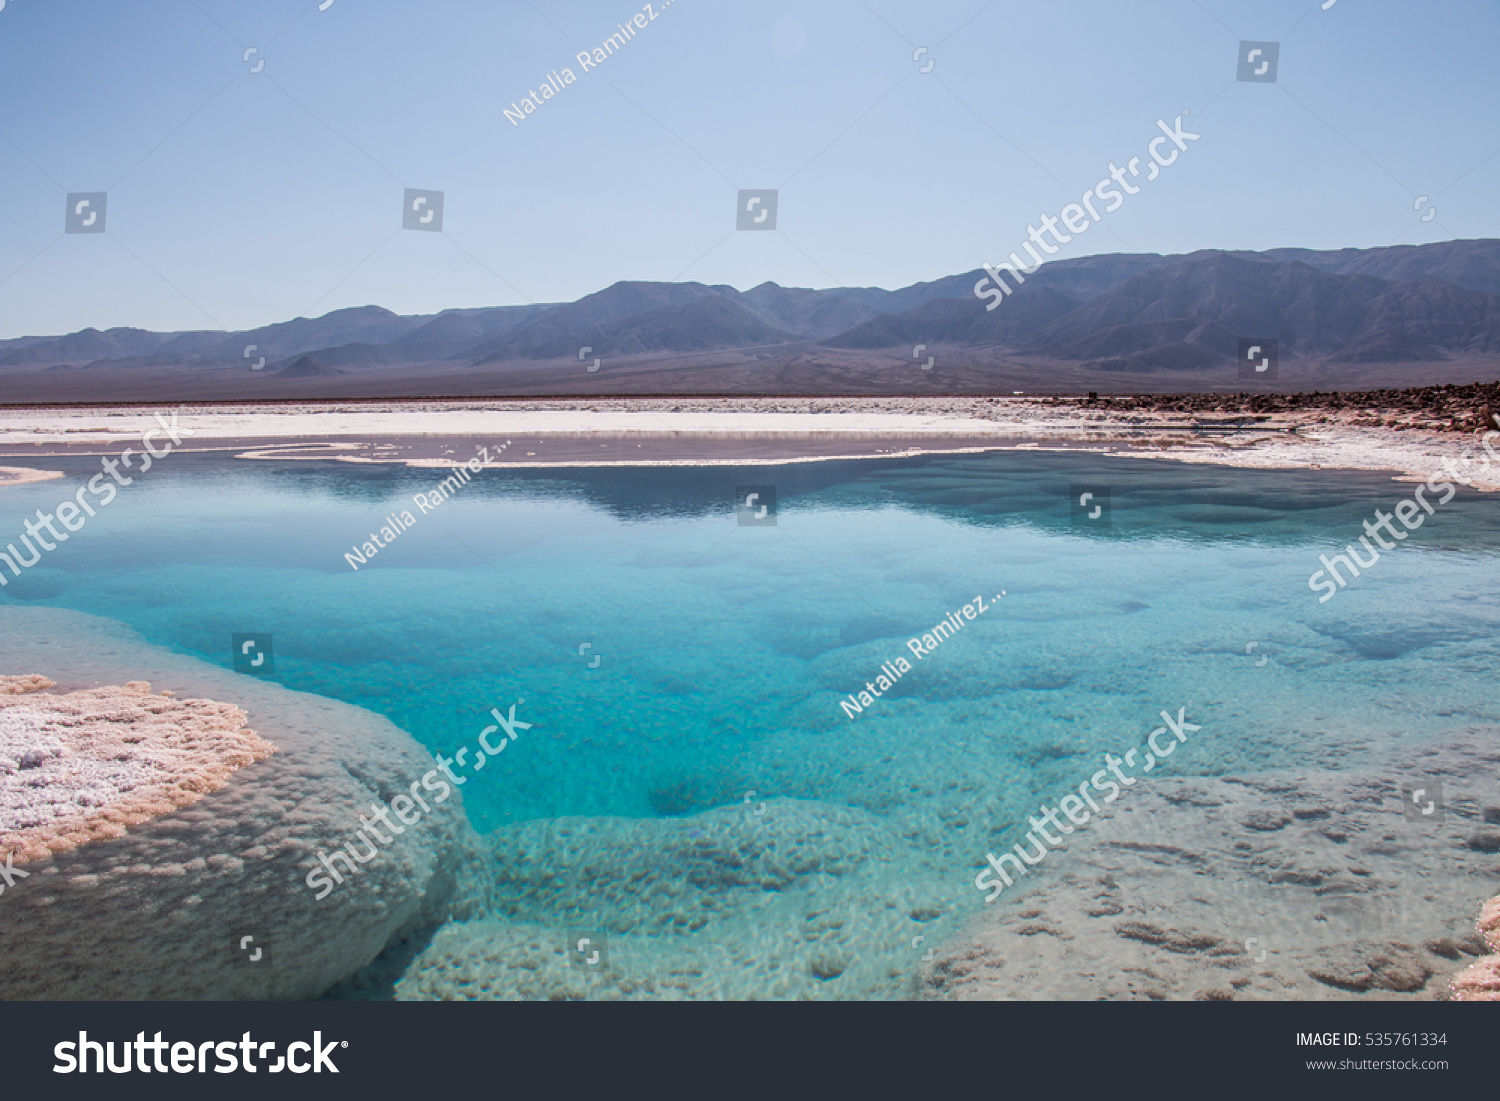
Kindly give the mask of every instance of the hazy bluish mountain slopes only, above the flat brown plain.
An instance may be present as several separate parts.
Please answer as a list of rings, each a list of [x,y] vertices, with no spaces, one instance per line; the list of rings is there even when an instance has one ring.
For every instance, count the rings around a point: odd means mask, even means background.
[[[618,282],[572,303],[408,316],[360,306],[242,333],[86,328],[0,340],[0,372],[231,368],[264,356],[264,376],[297,378],[570,360],[585,348],[639,357],[918,344],[1194,370],[1227,363],[1246,336],[1340,363],[1500,354],[1500,240],[1082,256],[1044,264],[993,310],[975,296],[981,280],[982,270],[896,291]]]

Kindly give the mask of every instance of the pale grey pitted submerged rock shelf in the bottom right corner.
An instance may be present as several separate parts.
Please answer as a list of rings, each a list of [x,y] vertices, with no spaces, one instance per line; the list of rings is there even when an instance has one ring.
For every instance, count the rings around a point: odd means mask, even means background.
[[[1448,816],[1478,818],[1500,795],[1500,730],[1338,771],[1142,782],[940,945],[921,994],[1438,1000],[1472,963],[1452,996],[1500,999],[1500,956],[1467,932],[1494,858],[1408,818],[1392,777],[1464,777]],[[1500,900],[1480,930],[1500,940]]]

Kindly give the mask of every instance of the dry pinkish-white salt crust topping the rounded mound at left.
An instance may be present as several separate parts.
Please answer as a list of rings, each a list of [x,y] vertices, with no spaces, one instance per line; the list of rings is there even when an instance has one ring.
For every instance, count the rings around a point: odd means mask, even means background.
[[[276,747],[232,704],[154,694],[144,681],[62,696],[0,676],[0,852],[69,852],[198,802]]]

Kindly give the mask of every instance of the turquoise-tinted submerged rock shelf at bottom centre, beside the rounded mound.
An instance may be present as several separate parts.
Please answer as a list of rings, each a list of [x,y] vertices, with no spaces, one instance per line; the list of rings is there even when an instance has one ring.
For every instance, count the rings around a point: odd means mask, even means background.
[[[832,804],[525,822],[486,840],[490,910],[444,926],[396,998],[900,998],[956,918],[951,876]]]

